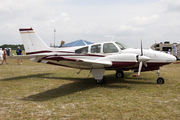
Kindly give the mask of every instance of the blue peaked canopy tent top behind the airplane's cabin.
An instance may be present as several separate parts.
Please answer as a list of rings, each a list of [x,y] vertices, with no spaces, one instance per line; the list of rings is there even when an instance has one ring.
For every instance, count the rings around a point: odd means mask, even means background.
[[[67,44],[64,44],[62,47],[74,47],[74,46],[85,46],[93,44],[92,42],[86,40],[76,40]]]

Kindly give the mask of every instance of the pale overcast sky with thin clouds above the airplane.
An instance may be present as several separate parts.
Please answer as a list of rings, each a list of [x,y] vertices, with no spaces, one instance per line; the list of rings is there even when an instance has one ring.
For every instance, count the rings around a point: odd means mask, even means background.
[[[180,43],[180,0],[0,0],[0,45],[22,44],[32,27],[48,45],[84,39],[150,48]],[[56,30],[54,34],[54,29]]]

